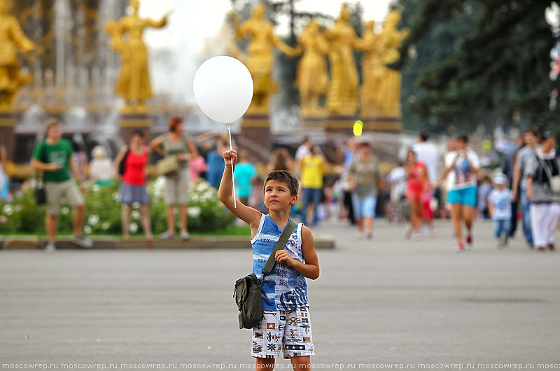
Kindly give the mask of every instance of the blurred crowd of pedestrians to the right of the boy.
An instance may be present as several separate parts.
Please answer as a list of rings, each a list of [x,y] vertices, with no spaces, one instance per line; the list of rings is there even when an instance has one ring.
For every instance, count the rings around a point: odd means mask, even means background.
[[[321,172],[323,181],[327,179],[329,165],[320,148],[305,138],[296,151],[294,167],[303,185],[302,209],[293,214],[307,225],[317,225],[327,214],[321,212],[328,207],[325,200],[334,194],[332,200],[340,206],[339,218],[347,218],[356,225],[358,238],[367,239],[373,237],[374,218],[382,214],[393,221],[406,221],[405,238],[414,239],[436,237],[434,217],[449,217],[456,239],[454,250],[461,252],[472,248],[478,218],[491,218],[498,248],[507,246],[517,225],[519,199],[528,246],[553,251],[560,218],[554,135],[529,128],[521,138],[513,149],[506,148],[509,152],[503,153],[503,160],[495,167],[488,166],[489,153],[481,157],[470,146],[467,134],[449,139],[447,152],[440,153],[428,134],[421,133],[416,143],[407,146],[406,159],[386,176],[381,175],[372,144],[353,138],[342,151],[342,172],[334,186],[319,180]],[[274,156],[285,151],[277,148]],[[286,163],[282,169],[290,169]],[[386,188],[391,190],[388,200],[384,200]]]

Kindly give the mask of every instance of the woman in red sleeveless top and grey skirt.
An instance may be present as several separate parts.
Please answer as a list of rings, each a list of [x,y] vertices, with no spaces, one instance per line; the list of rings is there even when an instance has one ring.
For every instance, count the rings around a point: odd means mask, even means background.
[[[123,202],[123,237],[130,237],[130,213],[132,204],[141,204],[142,227],[146,239],[151,241],[152,228],[150,223],[150,210],[148,209],[148,191],[146,190],[146,165],[150,149],[144,145],[144,133],[134,130],[130,134],[130,147],[124,146],[115,159],[115,174],[122,181],[120,186],[120,202]],[[120,165],[124,161],[123,166]],[[120,166],[119,166],[120,165]],[[119,171],[121,170],[121,171]],[[120,174],[122,173],[122,174]]]

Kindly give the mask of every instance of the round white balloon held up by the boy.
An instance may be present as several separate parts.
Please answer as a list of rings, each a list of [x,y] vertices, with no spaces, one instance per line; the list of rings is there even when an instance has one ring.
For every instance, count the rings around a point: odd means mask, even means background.
[[[202,112],[218,123],[233,123],[243,116],[253,99],[253,78],[238,59],[221,55],[198,67],[193,81],[195,99]]]

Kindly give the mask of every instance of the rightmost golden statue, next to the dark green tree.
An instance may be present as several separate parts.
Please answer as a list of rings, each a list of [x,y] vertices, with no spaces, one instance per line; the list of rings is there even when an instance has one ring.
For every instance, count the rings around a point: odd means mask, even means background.
[[[402,40],[408,36],[408,29],[399,31],[397,26],[401,20],[398,10],[391,10],[379,35],[381,45],[381,81],[377,90],[377,105],[381,109],[381,116],[400,117],[400,71],[390,69],[385,64],[395,62],[400,54],[398,48]]]

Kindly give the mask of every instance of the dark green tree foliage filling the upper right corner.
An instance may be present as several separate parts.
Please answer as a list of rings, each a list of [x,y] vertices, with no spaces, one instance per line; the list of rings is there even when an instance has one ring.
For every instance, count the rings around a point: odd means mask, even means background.
[[[409,128],[473,130],[484,125],[552,127],[558,82],[549,79],[551,1],[399,0],[410,28],[401,58]]]

